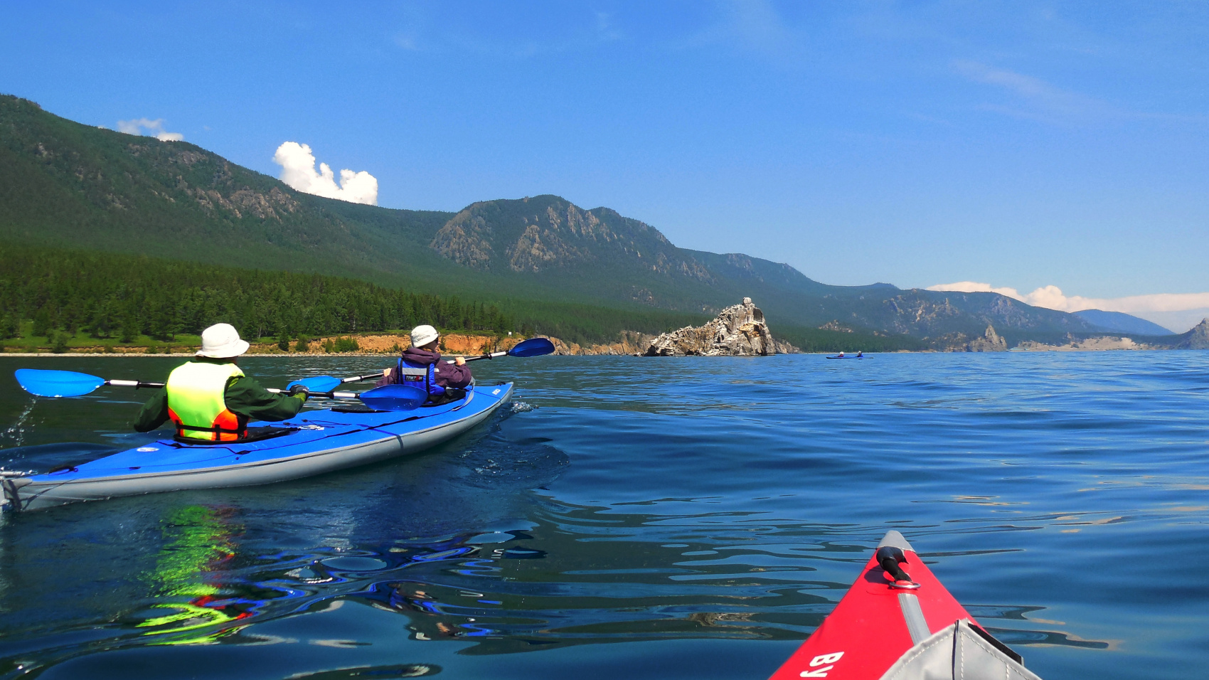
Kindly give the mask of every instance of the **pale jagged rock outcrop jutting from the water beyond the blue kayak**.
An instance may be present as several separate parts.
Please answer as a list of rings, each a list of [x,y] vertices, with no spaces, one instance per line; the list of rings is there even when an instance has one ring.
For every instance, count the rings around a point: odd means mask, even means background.
[[[693,328],[665,333],[650,341],[647,357],[751,357],[796,353],[798,348],[773,339],[764,312],[751,298],[722,310],[718,318]]]

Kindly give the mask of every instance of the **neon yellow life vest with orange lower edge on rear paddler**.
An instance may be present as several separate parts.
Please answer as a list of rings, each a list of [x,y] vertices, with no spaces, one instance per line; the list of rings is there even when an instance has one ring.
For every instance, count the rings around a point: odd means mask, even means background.
[[[235,442],[248,436],[248,419],[226,408],[232,378],[243,378],[233,363],[189,362],[168,375],[168,417],[177,436],[208,442]]]

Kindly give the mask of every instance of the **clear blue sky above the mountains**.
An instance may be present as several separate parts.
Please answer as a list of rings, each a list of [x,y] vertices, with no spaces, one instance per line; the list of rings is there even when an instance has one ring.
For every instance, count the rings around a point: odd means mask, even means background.
[[[559,194],[827,283],[1022,296],[1209,292],[1207,86],[1204,2],[44,1],[0,23],[0,92],[162,119],[273,175],[307,144],[382,206]]]

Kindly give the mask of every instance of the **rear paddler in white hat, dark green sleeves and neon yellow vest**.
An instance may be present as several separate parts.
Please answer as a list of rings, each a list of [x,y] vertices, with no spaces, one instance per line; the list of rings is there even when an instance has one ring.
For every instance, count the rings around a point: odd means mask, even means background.
[[[268,392],[236,365],[247,351],[248,342],[230,323],[203,330],[197,356],[168,375],[163,390],[143,405],[134,430],[150,432],[172,420],[178,439],[237,442],[248,437],[249,420],[294,417],[308,397],[306,387]]]

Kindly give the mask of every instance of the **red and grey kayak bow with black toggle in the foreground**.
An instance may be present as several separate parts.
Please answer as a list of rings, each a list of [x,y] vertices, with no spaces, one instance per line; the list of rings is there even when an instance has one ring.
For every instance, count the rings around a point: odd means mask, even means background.
[[[944,589],[897,531],[770,680],[1040,680]]]

